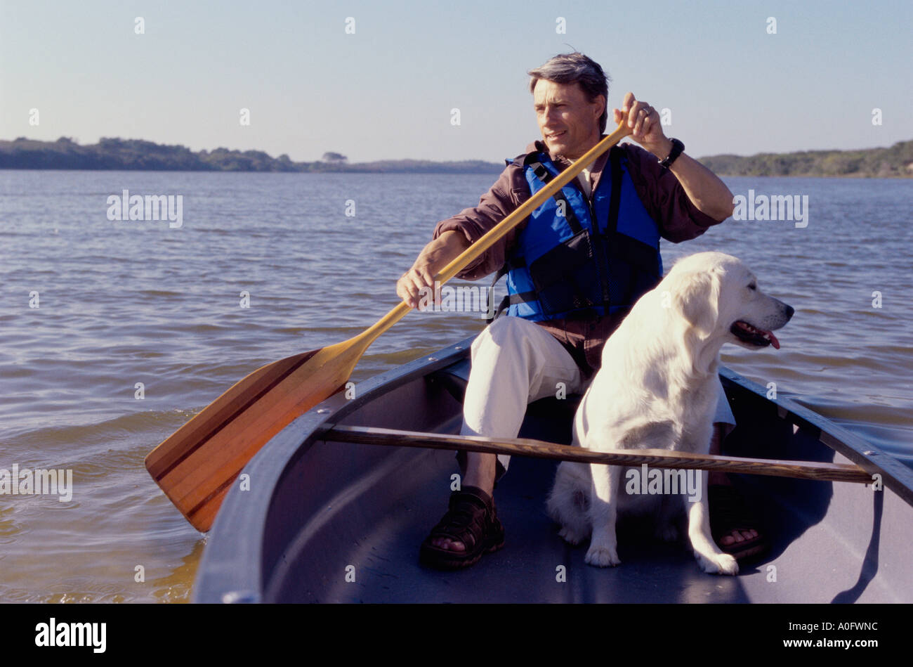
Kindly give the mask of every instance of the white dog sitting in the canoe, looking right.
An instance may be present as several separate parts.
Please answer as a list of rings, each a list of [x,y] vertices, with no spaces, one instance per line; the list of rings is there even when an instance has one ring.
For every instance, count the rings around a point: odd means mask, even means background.
[[[724,343],[760,349],[780,344],[771,333],[792,308],[758,290],[750,270],[721,252],[680,259],[656,289],[645,293],[609,338],[602,368],[574,418],[573,444],[588,450],[664,449],[708,453],[719,396],[719,348]],[[700,492],[686,502],[687,534],[701,568],[735,575],[739,566],[710,536],[707,475],[697,471]],[[621,466],[564,461],[547,508],[572,545],[588,535],[586,562],[615,566],[616,510],[656,512],[673,496],[626,492]],[[633,479],[631,473],[625,477]],[[630,483],[630,482],[629,482]],[[630,491],[630,489],[627,489]],[[667,514],[666,512],[663,512]],[[674,538],[668,515],[657,535]]]

